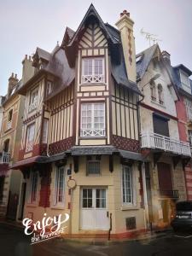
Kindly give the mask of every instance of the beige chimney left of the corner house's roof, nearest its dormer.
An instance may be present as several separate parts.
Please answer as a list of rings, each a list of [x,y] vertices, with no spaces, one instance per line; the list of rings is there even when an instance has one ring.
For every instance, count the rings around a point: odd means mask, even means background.
[[[32,67],[32,57],[25,56],[24,60],[22,61],[23,64],[23,71],[22,71],[22,83],[26,84],[26,82],[32,78],[34,75],[35,68]]]

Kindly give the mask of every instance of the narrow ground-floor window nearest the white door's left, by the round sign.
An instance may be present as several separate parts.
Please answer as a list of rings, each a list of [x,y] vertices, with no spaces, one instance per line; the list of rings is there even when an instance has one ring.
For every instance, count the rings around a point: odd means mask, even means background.
[[[64,204],[65,193],[65,170],[64,167],[58,167],[55,173],[55,205]]]

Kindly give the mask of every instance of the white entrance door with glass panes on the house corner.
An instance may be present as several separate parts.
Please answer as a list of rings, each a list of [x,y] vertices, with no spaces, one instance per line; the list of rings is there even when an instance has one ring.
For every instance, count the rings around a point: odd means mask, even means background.
[[[81,189],[82,230],[108,230],[107,189]]]

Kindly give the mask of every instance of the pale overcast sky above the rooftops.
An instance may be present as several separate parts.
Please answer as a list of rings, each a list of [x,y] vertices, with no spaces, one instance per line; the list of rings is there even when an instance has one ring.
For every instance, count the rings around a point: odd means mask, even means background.
[[[51,51],[57,41],[61,44],[66,26],[76,30],[91,2],[113,26],[122,10],[131,13],[137,53],[149,46],[143,28],[158,35],[173,66],[192,69],[192,0],[7,0],[0,1],[0,95],[6,94],[12,72],[20,78],[24,56],[36,47]]]

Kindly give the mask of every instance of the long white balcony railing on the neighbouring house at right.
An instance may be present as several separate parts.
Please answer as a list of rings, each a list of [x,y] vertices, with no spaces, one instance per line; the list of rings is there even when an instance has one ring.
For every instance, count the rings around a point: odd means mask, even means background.
[[[159,148],[174,154],[191,156],[189,143],[177,141],[171,137],[160,134],[143,132],[141,135],[141,148]]]

